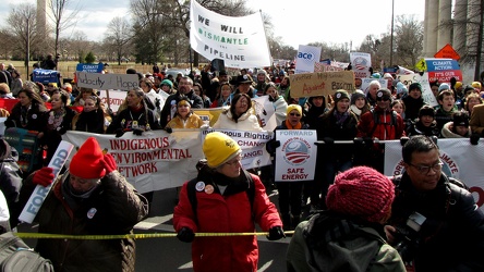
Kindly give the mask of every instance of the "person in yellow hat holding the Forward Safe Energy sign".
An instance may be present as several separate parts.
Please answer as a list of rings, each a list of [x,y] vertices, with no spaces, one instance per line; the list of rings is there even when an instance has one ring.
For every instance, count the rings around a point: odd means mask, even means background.
[[[278,125],[274,132],[279,129],[308,129],[307,124],[302,124],[302,108],[299,104],[288,106],[286,121]],[[274,135],[275,135],[274,133]],[[266,144],[266,150],[275,157],[276,148],[280,147],[280,141],[276,138]],[[276,165],[276,161],[273,161]],[[301,197],[303,182],[301,181],[275,181],[279,191],[279,210],[282,218],[282,224],[286,230],[293,230],[301,220]]]

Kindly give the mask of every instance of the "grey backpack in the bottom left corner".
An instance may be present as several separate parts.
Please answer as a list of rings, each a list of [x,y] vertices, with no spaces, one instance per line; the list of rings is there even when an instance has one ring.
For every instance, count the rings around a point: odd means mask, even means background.
[[[9,272],[53,272],[50,260],[35,252],[11,232],[0,235],[0,270]]]

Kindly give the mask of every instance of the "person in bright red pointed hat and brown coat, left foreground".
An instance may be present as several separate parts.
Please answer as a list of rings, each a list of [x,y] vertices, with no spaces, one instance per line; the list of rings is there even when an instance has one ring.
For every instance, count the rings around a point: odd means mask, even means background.
[[[52,186],[38,208],[39,233],[122,235],[148,214],[148,202],[117,170],[114,158],[89,137],[72,157],[69,172],[53,181],[43,168],[24,181],[23,194],[34,185]],[[43,239],[36,251],[56,271],[134,271],[135,243],[122,239]]]

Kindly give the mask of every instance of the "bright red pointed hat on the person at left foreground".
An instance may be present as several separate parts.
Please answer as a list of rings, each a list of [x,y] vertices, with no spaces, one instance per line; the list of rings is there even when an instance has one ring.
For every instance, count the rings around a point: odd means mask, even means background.
[[[69,172],[81,178],[101,178],[106,174],[105,154],[95,137],[89,137],[72,157]]]

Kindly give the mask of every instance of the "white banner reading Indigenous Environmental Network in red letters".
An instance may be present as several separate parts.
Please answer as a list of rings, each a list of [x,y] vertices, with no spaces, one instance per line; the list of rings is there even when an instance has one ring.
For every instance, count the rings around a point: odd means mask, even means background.
[[[102,149],[112,153],[119,172],[124,175],[140,193],[182,186],[196,177],[196,163],[204,158],[199,129],[152,131],[136,136],[125,133],[114,135],[90,134],[68,131],[62,136],[81,146],[94,136]]]

